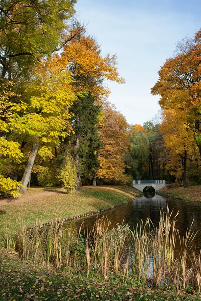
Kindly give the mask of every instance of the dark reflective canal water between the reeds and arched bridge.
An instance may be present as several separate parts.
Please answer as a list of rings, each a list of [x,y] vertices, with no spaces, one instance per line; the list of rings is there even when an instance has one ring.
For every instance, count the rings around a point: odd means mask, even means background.
[[[201,249],[201,207],[199,203],[195,202],[185,202],[176,199],[169,199],[160,196],[155,193],[144,193],[140,198],[137,198],[125,205],[114,208],[112,210],[105,211],[98,214],[98,216],[93,215],[87,218],[82,218],[75,221],[76,227],[79,227],[84,221],[85,226],[91,229],[97,220],[103,216],[107,216],[108,220],[111,222],[111,226],[115,227],[117,223],[124,224],[127,223],[131,229],[135,228],[137,224],[143,220],[144,222],[148,217],[150,217],[153,225],[157,227],[160,217],[160,210],[166,210],[167,205],[169,206],[169,211],[173,210],[173,216],[179,211],[177,217],[176,228],[179,230],[181,237],[185,236],[187,228],[191,225],[194,233],[198,231],[195,236],[194,243],[196,249]]]

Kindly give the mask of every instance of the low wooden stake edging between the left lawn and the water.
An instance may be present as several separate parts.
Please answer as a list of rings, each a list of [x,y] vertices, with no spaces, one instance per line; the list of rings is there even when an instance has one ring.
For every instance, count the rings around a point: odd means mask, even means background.
[[[82,218],[82,217],[87,217],[87,216],[91,216],[91,215],[94,215],[94,214],[98,214],[98,213],[101,213],[101,212],[103,212],[103,211],[112,210],[112,209],[114,209],[114,208],[123,206],[123,205],[125,205],[125,204],[127,204],[127,203],[129,203],[129,202],[132,202],[132,201],[134,201],[134,200],[137,199],[137,198],[139,198],[139,196],[136,197],[136,198],[134,198],[134,199],[131,199],[131,200],[129,200],[129,201],[125,201],[124,203],[116,204],[116,205],[114,205],[114,206],[111,206],[111,207],[109,207],[109,208],[103,208],[103,209],[99,209],[99,210],[97,210],[97,211],[89,211],[89,212],[86,212],[86,213],[76,214],[76,215],[73,215],[73,216],[71,216],[71,217],[65,217],[65,218],[61,218],[61,219],[56,219],[56,220],[51,220],[51,221],[48,221],[48,222],[44,222],[44,223],[40,224],[40,228],[43,228],[43,227],[48,226],[48,225],[51,225],[52,222],[57,222],[57,223],[60,222],[60,221],[65,221],[65,222],[67,222],[67,221],[76,220],[76,219],[79,219],[79,218]],[[32,230],[33,227],[35,227],[35,226],[36,226],[36,224],[33,224],[31,227],[28,227],[28,228],[27,228],[27,233],[31,232],[31,230]]]

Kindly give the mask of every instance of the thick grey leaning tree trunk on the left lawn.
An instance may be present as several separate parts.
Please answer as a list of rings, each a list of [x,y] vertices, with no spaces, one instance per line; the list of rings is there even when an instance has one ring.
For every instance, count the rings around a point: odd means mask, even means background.
[[[20,188],[20,193],[27,193],[27,185],[29,183],[31,170],[32,170],[34,160],[36,158],[37,153],[38,153],[38,144],[33,144],[31,154],[29,156],[27,165],[25,167],[24,175],[23,175],[22,180],[21,180],[22,185],[24,185],[24,187]]]

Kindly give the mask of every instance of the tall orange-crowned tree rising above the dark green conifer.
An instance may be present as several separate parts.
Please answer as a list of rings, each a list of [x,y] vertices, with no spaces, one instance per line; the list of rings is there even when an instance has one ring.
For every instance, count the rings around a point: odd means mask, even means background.
[[[70,41],[63,48],[60,60],[65,64],[73,76],[73,89],[77,97],[74,105],[78,108],[82,103],[84,93],[90,93],[94,102],[102,102],[102,98],[109,94],[104,80],[123,83],[117,71],[116,56],[102,57],[100,46],[94,38],[82,35]],[[76,126],[79,128],[80,115],[75,116]],[[80,167],[80,133],[76,131],[76,163]],[[77,189],[80,189],[80,169],[77,170]]]

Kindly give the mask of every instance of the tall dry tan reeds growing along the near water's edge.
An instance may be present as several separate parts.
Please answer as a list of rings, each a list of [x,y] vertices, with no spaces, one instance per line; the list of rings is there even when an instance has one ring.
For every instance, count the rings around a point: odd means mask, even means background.
[[[193,252],[192,225],[181,237],[176,228],[178,213],[161,212],[159,225],[142,221],[135,229],[97,220],[89,231],[84,224],[76,231],[59,219],[48,226],[36,223],[31,231],[23,220],[15,232],[5,234],[5,246],[21,258],[46,262],[57,269],[73,269],[87,276],[136,275],[150,286],[171,284],[177,289],[201,291],[201,252]],[[179,245],[179,247],[178,247]]]

